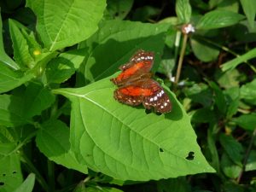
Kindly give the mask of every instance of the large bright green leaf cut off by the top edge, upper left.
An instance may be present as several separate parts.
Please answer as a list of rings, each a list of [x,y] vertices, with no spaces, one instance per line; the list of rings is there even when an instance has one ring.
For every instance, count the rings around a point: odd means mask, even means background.
[[[62,49],[89,38],[97,30],[105,0],[27,0],[38,17],[37,31],[49,51]]]

